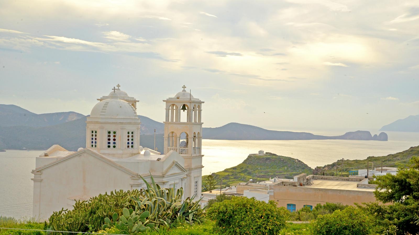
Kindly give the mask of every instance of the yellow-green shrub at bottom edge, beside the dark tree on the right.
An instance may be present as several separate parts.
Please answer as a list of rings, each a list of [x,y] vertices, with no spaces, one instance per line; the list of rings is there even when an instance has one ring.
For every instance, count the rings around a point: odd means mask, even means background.
[[[313,235],[367,235],[372,227],[367,213],[352,206],[319,215],[311,223]]]

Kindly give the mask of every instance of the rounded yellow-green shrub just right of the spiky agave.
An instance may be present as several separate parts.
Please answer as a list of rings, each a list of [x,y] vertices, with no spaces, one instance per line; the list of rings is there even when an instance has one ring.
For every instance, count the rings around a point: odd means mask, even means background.
[[[214,231],[220,234],[274,235],[286,226],[286,209],[273,201],[232,197],[214,203],[207,209],[209,219],[215,221]]]

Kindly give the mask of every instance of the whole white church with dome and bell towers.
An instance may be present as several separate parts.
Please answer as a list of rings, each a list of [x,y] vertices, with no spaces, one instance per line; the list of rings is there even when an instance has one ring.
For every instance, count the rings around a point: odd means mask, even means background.
[[[75,200],[119,189],[145,188],[140,176],[161,187],[183,187],[201,197],[201,100],[183,90],[166,103],[164,154],[140,145],[137,102],[118,88],[98,99],[86,121],[86,147],[77,152],[51,146],[36,158],[33,216],[47,220]]]

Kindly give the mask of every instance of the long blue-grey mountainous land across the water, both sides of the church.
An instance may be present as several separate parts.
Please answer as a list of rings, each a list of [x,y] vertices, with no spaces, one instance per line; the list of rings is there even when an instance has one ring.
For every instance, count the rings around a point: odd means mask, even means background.
[[[163,150],[164,124],[139,115],[140,144]],[[77,112],[36,114],[16,105],[0,105],[0,149],[47,149],[60,144],[69,151],[85,146],[86,116]],[[214,140],[388,140],[386,133],[371,135],[357,130],[339,136],[306,132],[266,130],[252,125],[228,123],[217,128],[203,128],[204,139]]]

